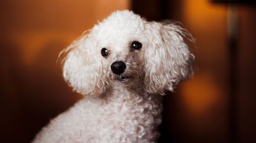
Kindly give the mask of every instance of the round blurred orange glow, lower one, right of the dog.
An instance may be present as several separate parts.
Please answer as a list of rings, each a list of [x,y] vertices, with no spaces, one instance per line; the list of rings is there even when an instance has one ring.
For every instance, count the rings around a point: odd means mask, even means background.
[[[181,86],[182,102],[191,115],[203,115],[213,108],[221,98],[221,92],[214,78],[201,73]]]

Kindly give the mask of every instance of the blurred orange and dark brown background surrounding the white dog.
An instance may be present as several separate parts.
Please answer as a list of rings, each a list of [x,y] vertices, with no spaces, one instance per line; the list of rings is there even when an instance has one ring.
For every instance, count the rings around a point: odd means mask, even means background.
[[[124,9],[148,20],[180,21],[196,38],[196,75],[164,97],[159,142],[255,141],[252,1],[0,0],[1,142],[30,142],[82,98],[63,80],[58,53]]]

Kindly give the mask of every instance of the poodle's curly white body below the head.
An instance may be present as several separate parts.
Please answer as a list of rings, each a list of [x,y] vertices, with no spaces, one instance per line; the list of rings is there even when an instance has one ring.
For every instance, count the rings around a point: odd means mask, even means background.
[[[100,98],[76,103],[51,121],[34,142],[155,142],[161,98],[118,84]]]

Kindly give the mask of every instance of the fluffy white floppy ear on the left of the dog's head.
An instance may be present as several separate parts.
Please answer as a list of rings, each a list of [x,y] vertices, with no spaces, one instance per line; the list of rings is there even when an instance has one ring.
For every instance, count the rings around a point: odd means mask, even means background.
[[[63,60],[63,77],[75,91],[83,95],[98,96],[108,85],[108,77],[103,76],[104,66],[97,56],[100,52],[96,44],[93,38],[85,35],[60,53],[67,53]]]

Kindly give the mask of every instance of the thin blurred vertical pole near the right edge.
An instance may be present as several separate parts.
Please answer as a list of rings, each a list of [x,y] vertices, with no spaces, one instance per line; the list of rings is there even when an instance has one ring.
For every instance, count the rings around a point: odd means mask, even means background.
[[[229,141],[230,143],[239,142],[238,137],[238,14],[233,5],[228,7],[228,50],[229,50]]]

